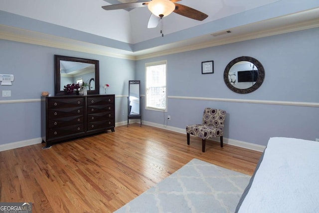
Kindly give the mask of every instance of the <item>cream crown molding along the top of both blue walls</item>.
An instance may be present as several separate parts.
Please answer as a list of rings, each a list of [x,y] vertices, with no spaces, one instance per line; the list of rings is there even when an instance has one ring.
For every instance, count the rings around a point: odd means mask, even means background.
[[[274,18],[274,20],[276,20],[276,18]],[[259,21],[257,23],[261,24],[262,22],[263,21]],[[247,24],[245,26],[249,27],[254,24],[256,23]],[[231,29],[225,29],[225,30],[233,31],[240,27],[242,26],[234,27]],[[11,26],[2,25],[2,24],[0,24],[0,39],[29,43],[29,44],[36,44],[41,46],[48,46],[53,48],[67,49],[67,50],[79,51],[79,52],[85,52],[85,53],[91,53],[91,54],[98,54],[98,55],[104,55],[104,56],[110,56],[110,57],[122,58],[122,59],[128,59],[128,60],[142,60],[147,58],[159,57],[163,55],[197,50],[197,49],[202,49],[207,47],[224,45],[228,43],[235,43],[235,42],[240,42],[245,40],[262,38],[262,37],[278,35],[278,34],[283,34],[288,32],[316,28],[316,27],[319,27],[319,18],[315,18],[315,19],[311,19],[311,20],[307,20],[303,22],[298,22],[295,24],[285,25],[283,27],[277,27],[277,28],[272,28],[268,30],[260,30],[253,33],[246,33],[246,34],[241,34],[237,36],[231,36],[229,38],[221,38],[221,39],[216,39],[209,42],[202,42],[202,43],[198,43],[194,45],[184,45],[183,47],[169,47],[169,44],[167,44],[165,45],[167,49],[163,51],[158,51],[157,50],[158,48],[155,47],[155,48],[152,48],[152,50],[143,50],[143,51],[137,51],[137,52],[119,50],[116,48],[106,47],[102,45],[97,45],[93,43],[73,40],[73,39],[54,36],[54,35],[48,35],[44,33],[34,32],[34,31],[26,30],[26,29],[20,29],[20,28],[11,27]],[[161,47],[159,46],[159,48]],[[148,53],[145,53],[146,51],[148,51]]]

